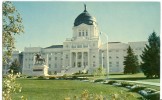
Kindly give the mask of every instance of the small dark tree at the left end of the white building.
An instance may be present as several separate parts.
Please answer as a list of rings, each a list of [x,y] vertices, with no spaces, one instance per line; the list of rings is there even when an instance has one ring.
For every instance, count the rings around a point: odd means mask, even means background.
[[[11,73],[11,71],[13,71],[13,74],[20,72],[20,62],[17,59],[11,63],[9,72]]]

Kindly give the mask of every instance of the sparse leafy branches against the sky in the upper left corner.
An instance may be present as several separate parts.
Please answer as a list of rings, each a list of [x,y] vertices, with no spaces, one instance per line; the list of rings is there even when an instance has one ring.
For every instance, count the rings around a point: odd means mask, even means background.
[[[10,1],[4,1],[2,4],[2,18],[3,63],[8,64],[8,60],[12,56],[12,51],[15,49],[14,35],[23,33],[24,27],[20,14]]]

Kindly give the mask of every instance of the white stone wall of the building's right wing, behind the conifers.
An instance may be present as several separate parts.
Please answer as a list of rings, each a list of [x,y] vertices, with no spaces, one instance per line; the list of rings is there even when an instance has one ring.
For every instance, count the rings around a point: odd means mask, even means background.
[[[133,49],[135,55],[138,56],[138,61],[141,62],[140,55],[142,54],[142,51],[145,47],[145,44],[147,44],[146,41],[139,41],[139,42],[129,42],[126,43],[120,43],[120,42],[111,42],[108,45],[109,50],[109,72],[110,73],[119,73],[124,71],[124,56],[127,55],[127,48],[130,45]],[[107,67],[107,48],[106,44],[103,45],[102,49],[103,52],[103,65],[106,68]],[[102,57],[101,61],[102,62]]]

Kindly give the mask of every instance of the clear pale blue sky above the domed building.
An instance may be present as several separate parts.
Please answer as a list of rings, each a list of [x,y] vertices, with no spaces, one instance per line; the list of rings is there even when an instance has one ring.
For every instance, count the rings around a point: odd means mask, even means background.
[[[84,11],[96,18],[109,42],[147,41],[160,35],[160,2],[14,2],[23,18],[25,33],[16,35],[17,50],[60,45],[72,37],[75,18]]]

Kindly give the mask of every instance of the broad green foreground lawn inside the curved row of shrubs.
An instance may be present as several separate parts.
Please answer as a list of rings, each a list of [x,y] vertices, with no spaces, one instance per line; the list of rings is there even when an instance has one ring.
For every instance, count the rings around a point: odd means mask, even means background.
[[[28,100],[64,100],[65,97],[75,95],[79,97],[83,90],[95,94],[102,92],[107,98],[110,98],[109,96],[112,94],[119,94],[120,98],[128,95],[127,100],[137,100],[138,97],[141,97],[137,93],[128,92],[126,88],[76,80],[18,79],[17,82],[23,87],[22,92],[18,95],[23,95]]]

